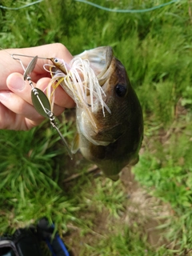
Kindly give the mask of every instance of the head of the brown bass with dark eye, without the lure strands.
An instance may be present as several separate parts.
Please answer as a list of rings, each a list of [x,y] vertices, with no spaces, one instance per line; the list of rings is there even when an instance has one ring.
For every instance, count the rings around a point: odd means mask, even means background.
[[[90,95],[86,96],[87,110],[78,108],[78,120],[82,134],[94,144],[106,146],[117,140],[122,134],[122,122],[127,118],[128,98],[132,88],[127,77],[125,67],[114,57],[110,46],[102,46],[93,50],[86,50],[78,55],[88,59],[94,70],[105,95],[102,100],[107,106],[104,109],[98,98],[94,98],[94,110],[90,110]],[[129,94],[130,92],[130,94]],[[124,117],[125,116],[125,117]],[[119,126],[121,129],[119,130]]]

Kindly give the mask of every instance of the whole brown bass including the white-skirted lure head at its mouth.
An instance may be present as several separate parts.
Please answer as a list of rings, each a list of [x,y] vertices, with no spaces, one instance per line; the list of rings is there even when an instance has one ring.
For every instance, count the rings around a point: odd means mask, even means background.
[[[76,55],[69,66],[57,58],[52,62],[58,70],[54,82],[57,79],[77,103],[77,134],[72,152],[80,150],[83,157],[96,164],[106,177],[117,181],[125,166],[138,162],[143,138],[142,107],[125,67],[114,57],[110,46],[85,50]],[[74,62],[86,64],[84,69],[81,64],[81,68],[76,69],[76,77],[72,78],[70,70]],[[87,70],[90,71],[83,74]]]

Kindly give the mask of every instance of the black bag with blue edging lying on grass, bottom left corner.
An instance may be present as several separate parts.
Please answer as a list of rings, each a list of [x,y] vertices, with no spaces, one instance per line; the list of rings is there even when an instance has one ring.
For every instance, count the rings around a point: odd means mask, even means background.
[[[12,236],[0,238],[0,256],[43,256],[40,242],[46,242],[53,256],[70,256],[66,246],[47,218],[39,220],[36,228],[18,229]]]

